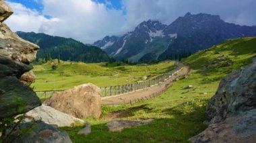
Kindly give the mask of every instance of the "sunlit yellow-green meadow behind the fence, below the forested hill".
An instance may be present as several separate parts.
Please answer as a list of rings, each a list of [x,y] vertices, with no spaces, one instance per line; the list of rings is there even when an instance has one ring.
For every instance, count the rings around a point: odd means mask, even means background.
[[[143,76],[156,77],[174,68],[174,62],[165,61],[150,66],[106,67],[104,63],[85,64],[83,62],[61,62],[57,70],[51,69],[51,63],[34,65],[35,91],[69,89],[83,83],[94,83],[99,87],[123,85],[141,81]]]

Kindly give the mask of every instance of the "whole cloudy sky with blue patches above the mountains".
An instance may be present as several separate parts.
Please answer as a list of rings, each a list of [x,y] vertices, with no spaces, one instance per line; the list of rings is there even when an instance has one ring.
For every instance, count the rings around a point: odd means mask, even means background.
[[[188,11],[220,15],[227,22],[256,26],[255,0],[7,0],[15,31],[43,32],[91,44],[121,36],[148,19],[170,24]],[[195,8],[196,7],[196,8]]]

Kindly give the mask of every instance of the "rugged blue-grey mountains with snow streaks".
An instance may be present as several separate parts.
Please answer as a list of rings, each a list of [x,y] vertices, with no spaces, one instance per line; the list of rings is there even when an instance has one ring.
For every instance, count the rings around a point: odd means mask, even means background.
[[[118,60],[164,60],[210,48],[230,38],[256,36],[256,26],[226,23],[218,15],[187,13],[170,25],[143,21],[133,32],[106,36],[94,46]]]

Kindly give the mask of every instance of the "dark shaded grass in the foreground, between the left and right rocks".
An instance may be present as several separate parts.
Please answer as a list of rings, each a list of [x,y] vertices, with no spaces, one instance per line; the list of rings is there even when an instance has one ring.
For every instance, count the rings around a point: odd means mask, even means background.
[[[61,128],[68,132],[73,142],[188,142],[188,139],[203,131],[206,126],[205,103],[182,103],[162,112],[170,115],[168,118],[157,118],[146,126],[125,128],[122,132],[109,132],[106,121],[92,124],[92,133],[77,135],[82,126]],[[135,107],[143,109],[145,105]],[[134,108],[128,109],[132,111]],[[129,112],[128,112],[129,113]]]

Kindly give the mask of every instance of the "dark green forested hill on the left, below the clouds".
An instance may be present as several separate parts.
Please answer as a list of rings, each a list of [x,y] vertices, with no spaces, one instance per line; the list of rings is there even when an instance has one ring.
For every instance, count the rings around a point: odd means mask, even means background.
[[[21,38],[40,46],[36,59],[51,58],[82,62],[107,62],[106,52],[96,46],[88,46],[71,38],[36,34],[34,32],[16,32]]]

